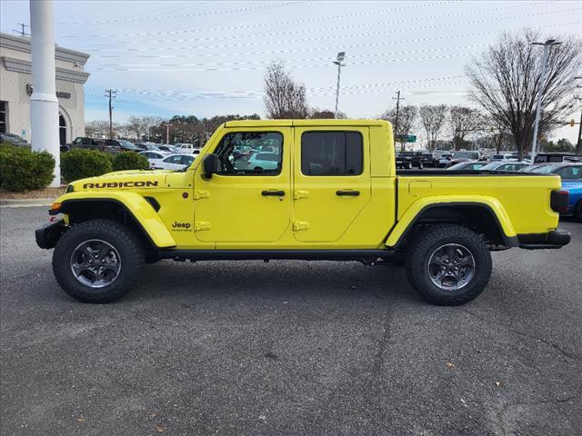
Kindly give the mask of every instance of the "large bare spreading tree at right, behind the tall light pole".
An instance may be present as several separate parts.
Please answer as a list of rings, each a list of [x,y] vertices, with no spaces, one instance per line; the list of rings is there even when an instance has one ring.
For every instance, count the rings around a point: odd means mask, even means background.
[[[540,89],[541,49],[531,43],[544,39],[531,29],[519,35],[504,34],[466,67],[472,84],[469,98],[511,132],[519,159],[532,143]],[[552,47],[547,58],[540,135],[549,133],[567,116],[573,103],[572,83],[582,68],[582,42],[577,38],[560,41],[563,44]]]

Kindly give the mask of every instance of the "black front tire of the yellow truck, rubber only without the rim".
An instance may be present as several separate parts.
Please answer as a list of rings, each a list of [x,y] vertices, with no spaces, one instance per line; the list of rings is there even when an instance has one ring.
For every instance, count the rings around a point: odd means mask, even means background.
[[[92,239],[114,246],[121,260],[121,269],[115,281],[101,288],[79,282],[71,269],[71,256],[75,248]],[[131,290],[144,262],[142,243],[125,225],[111,220],[90,220],[74,224],[58,241],[53,253],[53,272],[61,288],[81,302],[115,302]]]

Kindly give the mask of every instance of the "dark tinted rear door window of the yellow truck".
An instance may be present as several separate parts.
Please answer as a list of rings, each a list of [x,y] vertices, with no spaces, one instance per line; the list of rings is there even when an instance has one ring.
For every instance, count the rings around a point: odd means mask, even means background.
[[[364,144],[359,132],[306,132],[301,135],[301,173],[359,175]]]

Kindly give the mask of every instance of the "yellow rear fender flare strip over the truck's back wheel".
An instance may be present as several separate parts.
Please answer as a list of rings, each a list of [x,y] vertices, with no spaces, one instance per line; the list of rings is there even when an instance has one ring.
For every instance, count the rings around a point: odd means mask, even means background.
[[[516,237],[517,233],[509,219],[509,215],[503,204],[499,202],[494,197],[489,197],[487,195],[435,195],[429,197],[423,197],[412,203],[410,207],[406,210],[402,218],[392,231],[388,234],[386,239],[387,247],[396,246],[401,238],[406,234],[408,229],[410,229],[416,220],[420,217],[421,213],[426,211],[428,208],[438,207],[438,206],[454,206],[454,205],[477,205],[485,206],[487,209],[494,213],[497,218],[497,223],[501,226],[501,230],[507,238]]]

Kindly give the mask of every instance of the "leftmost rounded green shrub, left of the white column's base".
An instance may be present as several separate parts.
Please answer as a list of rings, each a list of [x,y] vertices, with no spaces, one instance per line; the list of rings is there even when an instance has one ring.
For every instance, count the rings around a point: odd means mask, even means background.
[[[53,181],[55,158],[48,152],[0,144],[0,186],[15,192],[42,189]]]

